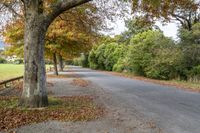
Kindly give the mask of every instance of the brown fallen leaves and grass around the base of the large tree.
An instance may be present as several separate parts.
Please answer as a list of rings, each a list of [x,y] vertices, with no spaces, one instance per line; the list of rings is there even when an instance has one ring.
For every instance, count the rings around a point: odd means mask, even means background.
[[[40,109],[17,107],[18,98],[0,97],[0,131],[48,120],[89,121],[103,115],[103,108],[91,96],[50,97]]]

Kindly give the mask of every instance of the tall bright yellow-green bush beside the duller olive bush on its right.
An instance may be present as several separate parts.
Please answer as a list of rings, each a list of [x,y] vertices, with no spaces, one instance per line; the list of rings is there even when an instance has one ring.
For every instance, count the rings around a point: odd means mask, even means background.
[[[157,41],[162,37],[160,32],[149,30],[139,33],[131,39],[127,56],[135,74],[146,76],[145,68],[155,57],[155,48],[159,46]]]

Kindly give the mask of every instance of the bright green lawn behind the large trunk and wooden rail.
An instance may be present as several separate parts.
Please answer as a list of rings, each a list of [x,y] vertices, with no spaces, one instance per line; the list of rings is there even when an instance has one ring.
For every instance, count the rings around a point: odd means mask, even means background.
[[[46,65],[49,68],[51,65]],[[24,73],[24,65],[20,64],[0,64],[0,81],[10,78],[22,76]]]

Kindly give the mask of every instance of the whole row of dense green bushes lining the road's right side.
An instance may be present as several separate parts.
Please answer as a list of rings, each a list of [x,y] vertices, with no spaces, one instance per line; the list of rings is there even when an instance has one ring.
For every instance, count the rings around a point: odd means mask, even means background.
[[[91,50],[89,66],[92,69],[131,72],[163,80],[200,80],[200,23],[193,25],[192,30],[180,29],[177,44],[159,30],[148,30],[150,25],[131,26],[130,23],[129,26],[130,41],[121,41],[123,35],[104,38]]]

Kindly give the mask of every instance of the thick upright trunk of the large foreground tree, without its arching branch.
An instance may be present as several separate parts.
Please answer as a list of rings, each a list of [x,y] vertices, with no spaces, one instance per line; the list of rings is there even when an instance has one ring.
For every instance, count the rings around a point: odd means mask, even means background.
[[[24,85],[20,105],[25,107],[44,107],[48,105],[44,44],[47,26],[38,16],[35,1],[26,9],[24,34]]]

